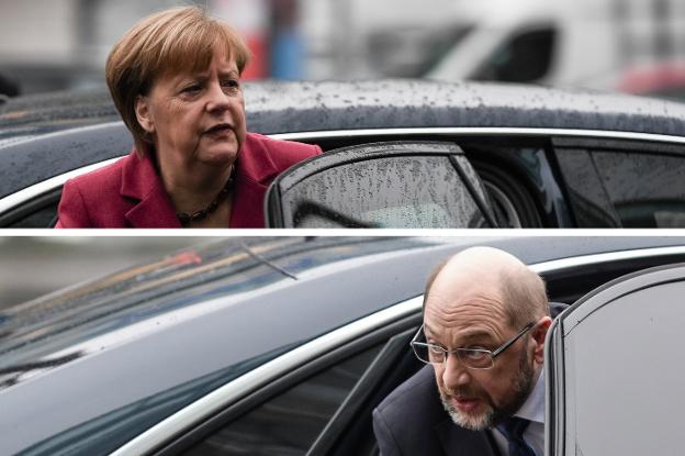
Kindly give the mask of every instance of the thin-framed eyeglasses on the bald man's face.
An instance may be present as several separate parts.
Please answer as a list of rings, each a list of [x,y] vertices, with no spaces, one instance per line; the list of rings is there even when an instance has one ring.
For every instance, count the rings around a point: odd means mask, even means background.
[[[441,365],[447,360],[447,356],[450,353],[457,355],[459,362],[471,369],[492,369],[495,365],[495,358],[499,356],[505,349],[514,345],[524,334],[535,326],[535,322],[528,323],[519,331],[514,337],[506,341],[499,347],[494,351],[484,348],[454,348],[445,349],[439,345],[427,344],[425,342],[418,342],[419,335],[424,331],[424,326],[418,329],[418,332],[409,343],[414,349],[416,357],[427,364]]]

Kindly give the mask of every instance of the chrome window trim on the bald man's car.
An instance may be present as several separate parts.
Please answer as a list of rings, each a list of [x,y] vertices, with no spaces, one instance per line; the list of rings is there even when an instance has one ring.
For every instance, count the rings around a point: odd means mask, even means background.
[[[685,245],[671,247],[645,247],[630,251],[580,255],[575,257],[531,264],[529,267],[538,274],[544,274],[600,263],[618,262],[628,258],[645,258],[678,254],[685,254]],[[203,418],[216,413],[226,404],[236,401],[245,393],[256,390],[259,386],[265,385],[271,379],[280,377],[282,372],[289,371],[296,366],[319,356],[322,353],[325,353],[326,349],[351,342],[356,337],[367,333],[368,331],[380,327],[386,322],[407,316],[414,312],[419,312],[422,303],[423,296],[412,298],[308,342],[292,352],[289,352],[277,359],[273,359],[255,370],[245,374],[242,377],[238,377],[200,400],[191,403],[184,409],[179,410],[166,420],[157,423],[141,435],[136,436],[124,446],[120,447],[117,451],[112,453],[112,455],[137,456],[146,454],[147,452],[150,452],[168,442],[169,438],[181,433],[188,426],[192,425],[192,423],[199,422]]]

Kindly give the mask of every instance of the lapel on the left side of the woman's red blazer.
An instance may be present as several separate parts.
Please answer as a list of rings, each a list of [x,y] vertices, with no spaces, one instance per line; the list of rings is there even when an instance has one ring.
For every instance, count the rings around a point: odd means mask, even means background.
[[[181,227],[149,157],[139,158],[135,151],[126,157],[121,194],[133,200],[134,205],[124,214],[133,227]]]

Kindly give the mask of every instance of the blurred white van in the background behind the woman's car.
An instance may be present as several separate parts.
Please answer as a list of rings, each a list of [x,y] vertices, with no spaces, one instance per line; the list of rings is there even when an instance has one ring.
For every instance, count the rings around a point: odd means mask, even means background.
[[[370,31],[369,60],[383,76],[616,88],[685,55],[685,0],[453,0],[440,14]]]

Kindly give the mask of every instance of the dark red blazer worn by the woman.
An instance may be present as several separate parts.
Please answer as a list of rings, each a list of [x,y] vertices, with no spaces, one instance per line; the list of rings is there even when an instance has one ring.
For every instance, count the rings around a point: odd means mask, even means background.
[[[269,183],[295,163],[321,153],[315,145],[248,133],[236,160],[229,227],[265,227]],[[58,215],[57,227],[181,227],[154,162],[135,151],[68,180]]]

